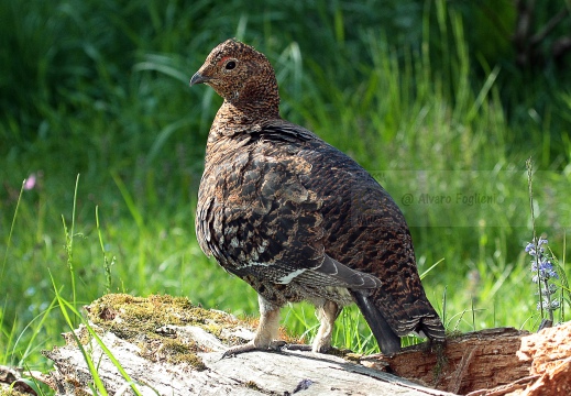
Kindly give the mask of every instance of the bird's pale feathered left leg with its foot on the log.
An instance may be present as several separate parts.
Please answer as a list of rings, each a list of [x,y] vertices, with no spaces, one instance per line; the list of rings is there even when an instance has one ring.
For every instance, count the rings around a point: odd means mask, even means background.
[[[245,344],[230,348],[224,352],[224,358],[244,352],[277,350],[285,344],[285,342],[276,341],[279,329],[279,306],[270,302],[261,295],[257,296],[257,301],[260,304],[260,324],[257,324],[254,339]]]

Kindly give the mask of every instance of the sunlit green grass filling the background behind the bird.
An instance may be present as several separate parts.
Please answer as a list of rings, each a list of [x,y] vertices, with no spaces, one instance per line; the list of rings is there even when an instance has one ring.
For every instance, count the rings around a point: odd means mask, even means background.
[[[255,294],[208,260],[194,234],[220,99],[187,84],[228,36],[268,55],[285,118],[349,153],[392,194],[411,226],[419,272],[440,262],[424,284],[449,330],[539,323],[523,251],[531,239],[525,161],[537,164],[537,231],[564,257],[569,77],[477,56],[486,48],[466,37],[471,22],[454,2],[383,14],[325,1],[248,11],[240,1],[32,3],[34,12],[15,0],[0,6],[0,29],[15,32],[6,53],[19,54],[0,55],[9,67],[0,364],[46,370],[40,351],[62,342],[62,308],[78,310],[108,292],[188,296],[256,315]],[[23,189],[31,175],[34,187]],[[476,204],[476,195],[493,199]],[[283,318],[307,339],[317,327],[306,304],[284,308]],[[356,308],[338,320],[334,344],[375,350]]]

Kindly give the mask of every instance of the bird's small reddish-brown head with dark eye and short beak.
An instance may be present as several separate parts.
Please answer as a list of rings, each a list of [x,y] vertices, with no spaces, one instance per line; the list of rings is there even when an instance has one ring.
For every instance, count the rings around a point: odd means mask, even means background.
[[[234,38],[215,47],[190,79],[190,86],[207,84],[226,101],[242,108],[277,110],[279,94],[274,68],[250,45]]]

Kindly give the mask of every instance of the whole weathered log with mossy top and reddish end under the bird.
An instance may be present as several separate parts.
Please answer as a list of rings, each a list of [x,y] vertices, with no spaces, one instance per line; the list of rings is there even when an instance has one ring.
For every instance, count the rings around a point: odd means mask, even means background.
[[[130,380],[83,326],[65,336],[65,346],[45,352],[54,361],[50,382],[58,395],[89,393],[92,376],[78,341],[110,395],[132,394],[132,386],[143,395],[571,394],[571,323],[535,334],[490,329],[450,338],[442,351],[427,351],[425,344],[392,358],[349,355],[350,361],[348,356],[283,351],[221,359],[229,344],[253,337],[248,323],[164,296],[113,298],[114,305],[108,296],[91,304],[89,319]],[[121,302],[116,304],[118,300]],[[141,308],[162,315],[162,320],[168,312],[172,318],[183,318],[183,323],[167,321],[145,327],[151,332],[138,333],[129,327],[133,305],[139,309],[133,317],[141,326],[156,319]],[[188,316],[191,309],[194,314]]]

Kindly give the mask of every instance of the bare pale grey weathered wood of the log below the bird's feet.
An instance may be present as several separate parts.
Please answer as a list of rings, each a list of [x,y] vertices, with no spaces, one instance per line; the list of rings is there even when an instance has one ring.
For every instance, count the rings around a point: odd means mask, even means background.
[[[187,337],[188,329],[172,329]],[[195,329],[196,330],[196,329]],[[201,331],[190,330],[190,333]],[[210,348],[226,349],[213,337],[201,334]],[[364,367],[333,355],[310,352],[251,352],[221,359],[221,352],[199,353],[205,367],[188,363],[151,362],[138,346],[106,332],[101,341],[143,395],[289,395],[301,391],[327,395],[446,395],[394,375]],[[129,389],[129,381],[118,372],[97,342],[85,345],[97,362],[98,373],[110,394]],[[57,393],[77,394],[92,381],[85,359],[73,344],[46,353],[55,363],[53,378]],[[156,391],[156,393],[155,393]]]

